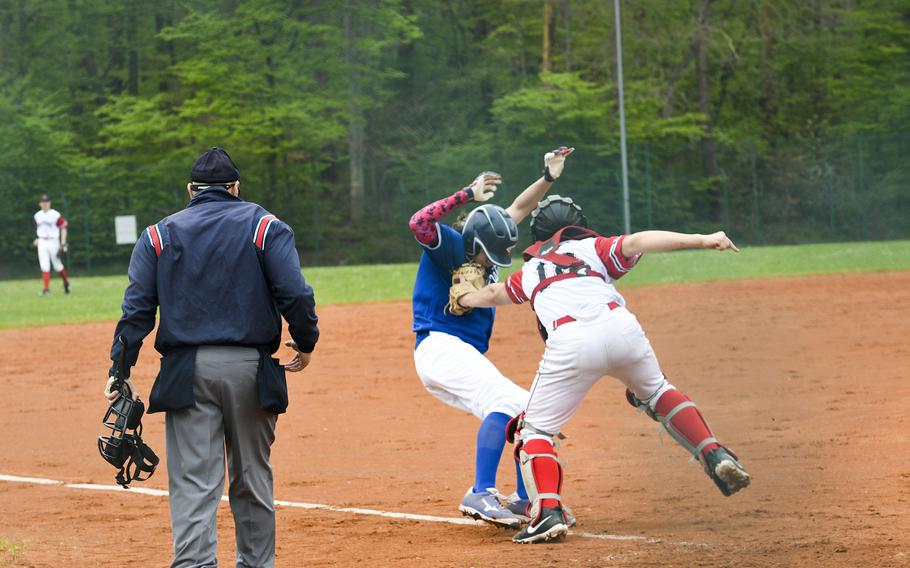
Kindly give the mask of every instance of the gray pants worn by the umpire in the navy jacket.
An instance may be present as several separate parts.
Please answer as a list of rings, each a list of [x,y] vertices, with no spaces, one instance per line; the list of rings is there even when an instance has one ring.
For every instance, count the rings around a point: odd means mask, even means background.
[[[173,568],[218,564],[215,515],[224,492],[225,448],[237,566],[275,565],[269,455],[276,416],[259,408],[258,365],[255,349],[199,347],[193,380],[196,405],[167,413]]]

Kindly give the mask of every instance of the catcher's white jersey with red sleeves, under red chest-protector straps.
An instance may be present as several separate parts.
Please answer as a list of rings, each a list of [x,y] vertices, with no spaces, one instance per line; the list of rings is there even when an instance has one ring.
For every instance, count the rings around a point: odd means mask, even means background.
[[[622,253],[622,241],[618,237],[591,237],[559,243],[556,252],[581,261],[577,278],[566,278],[549,284],[534,297],[533,307],[540,322],[549,327],[563,316],[583,319],[586,314],[597,315],[609,302],[625,306],[625,299],[613,286],[638,262],[641,255],[628,258]],[[547,278],[558,276],[564,271],[542,258],[531,258],[518,272],[506,281],[506,292],[516,304],[530,301],[534,290]],[[587,273],[599,276],[588,276]]]

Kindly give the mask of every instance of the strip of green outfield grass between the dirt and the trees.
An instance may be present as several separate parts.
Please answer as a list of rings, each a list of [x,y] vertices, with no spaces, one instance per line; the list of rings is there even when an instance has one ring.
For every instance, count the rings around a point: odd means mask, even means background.
[[[513,265],[517,268],[518,263]],[[304,268],[320,305],[406,300],[415,264]],[[772,278],[831,272],[910,269],[910,241],[746,248],[739,254],[681,251],[647,255],[620,288],[678,282]],[[38,292],[41,280],[0,282],[0,329],[51,323],[115,320],[126,276],[74,278],[73,293],[63,294],[55,276],[49,298]]]

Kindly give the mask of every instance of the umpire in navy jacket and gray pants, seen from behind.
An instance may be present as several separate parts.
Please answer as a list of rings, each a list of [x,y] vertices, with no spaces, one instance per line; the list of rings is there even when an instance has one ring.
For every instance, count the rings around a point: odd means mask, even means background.
[[[225,448],[237,566],[273,566],[269,455],[287,408],[285,369],[306,367],[319,339],[313,289],[300,274],[291,228],[238,197],[240,170],[227,152],[207,150],[190,179],[186,209],[146,229],[133,249],[111,359],[123,334],[127,364],[135,365],[160,309],[161,371],[148,411],[166,413],[171,566],[217,565]],[[287,366],[272,358],[281,316],[296,351]],[[118,396],[111,383],[109,400]]]

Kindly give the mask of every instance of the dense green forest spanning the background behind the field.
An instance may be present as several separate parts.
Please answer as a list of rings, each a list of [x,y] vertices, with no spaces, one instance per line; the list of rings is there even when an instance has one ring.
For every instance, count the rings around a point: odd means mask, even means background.
[[[0,276],[50,194],[77,272],[122,271],[226,148],[305,265],[416,260],[420,206],[543,154],[621,232],[607,0],[0,0]],[[910,3],[623,3],[631,223],[741,244],[910,237]],[[524,235],[527,231],[524,231]]]

